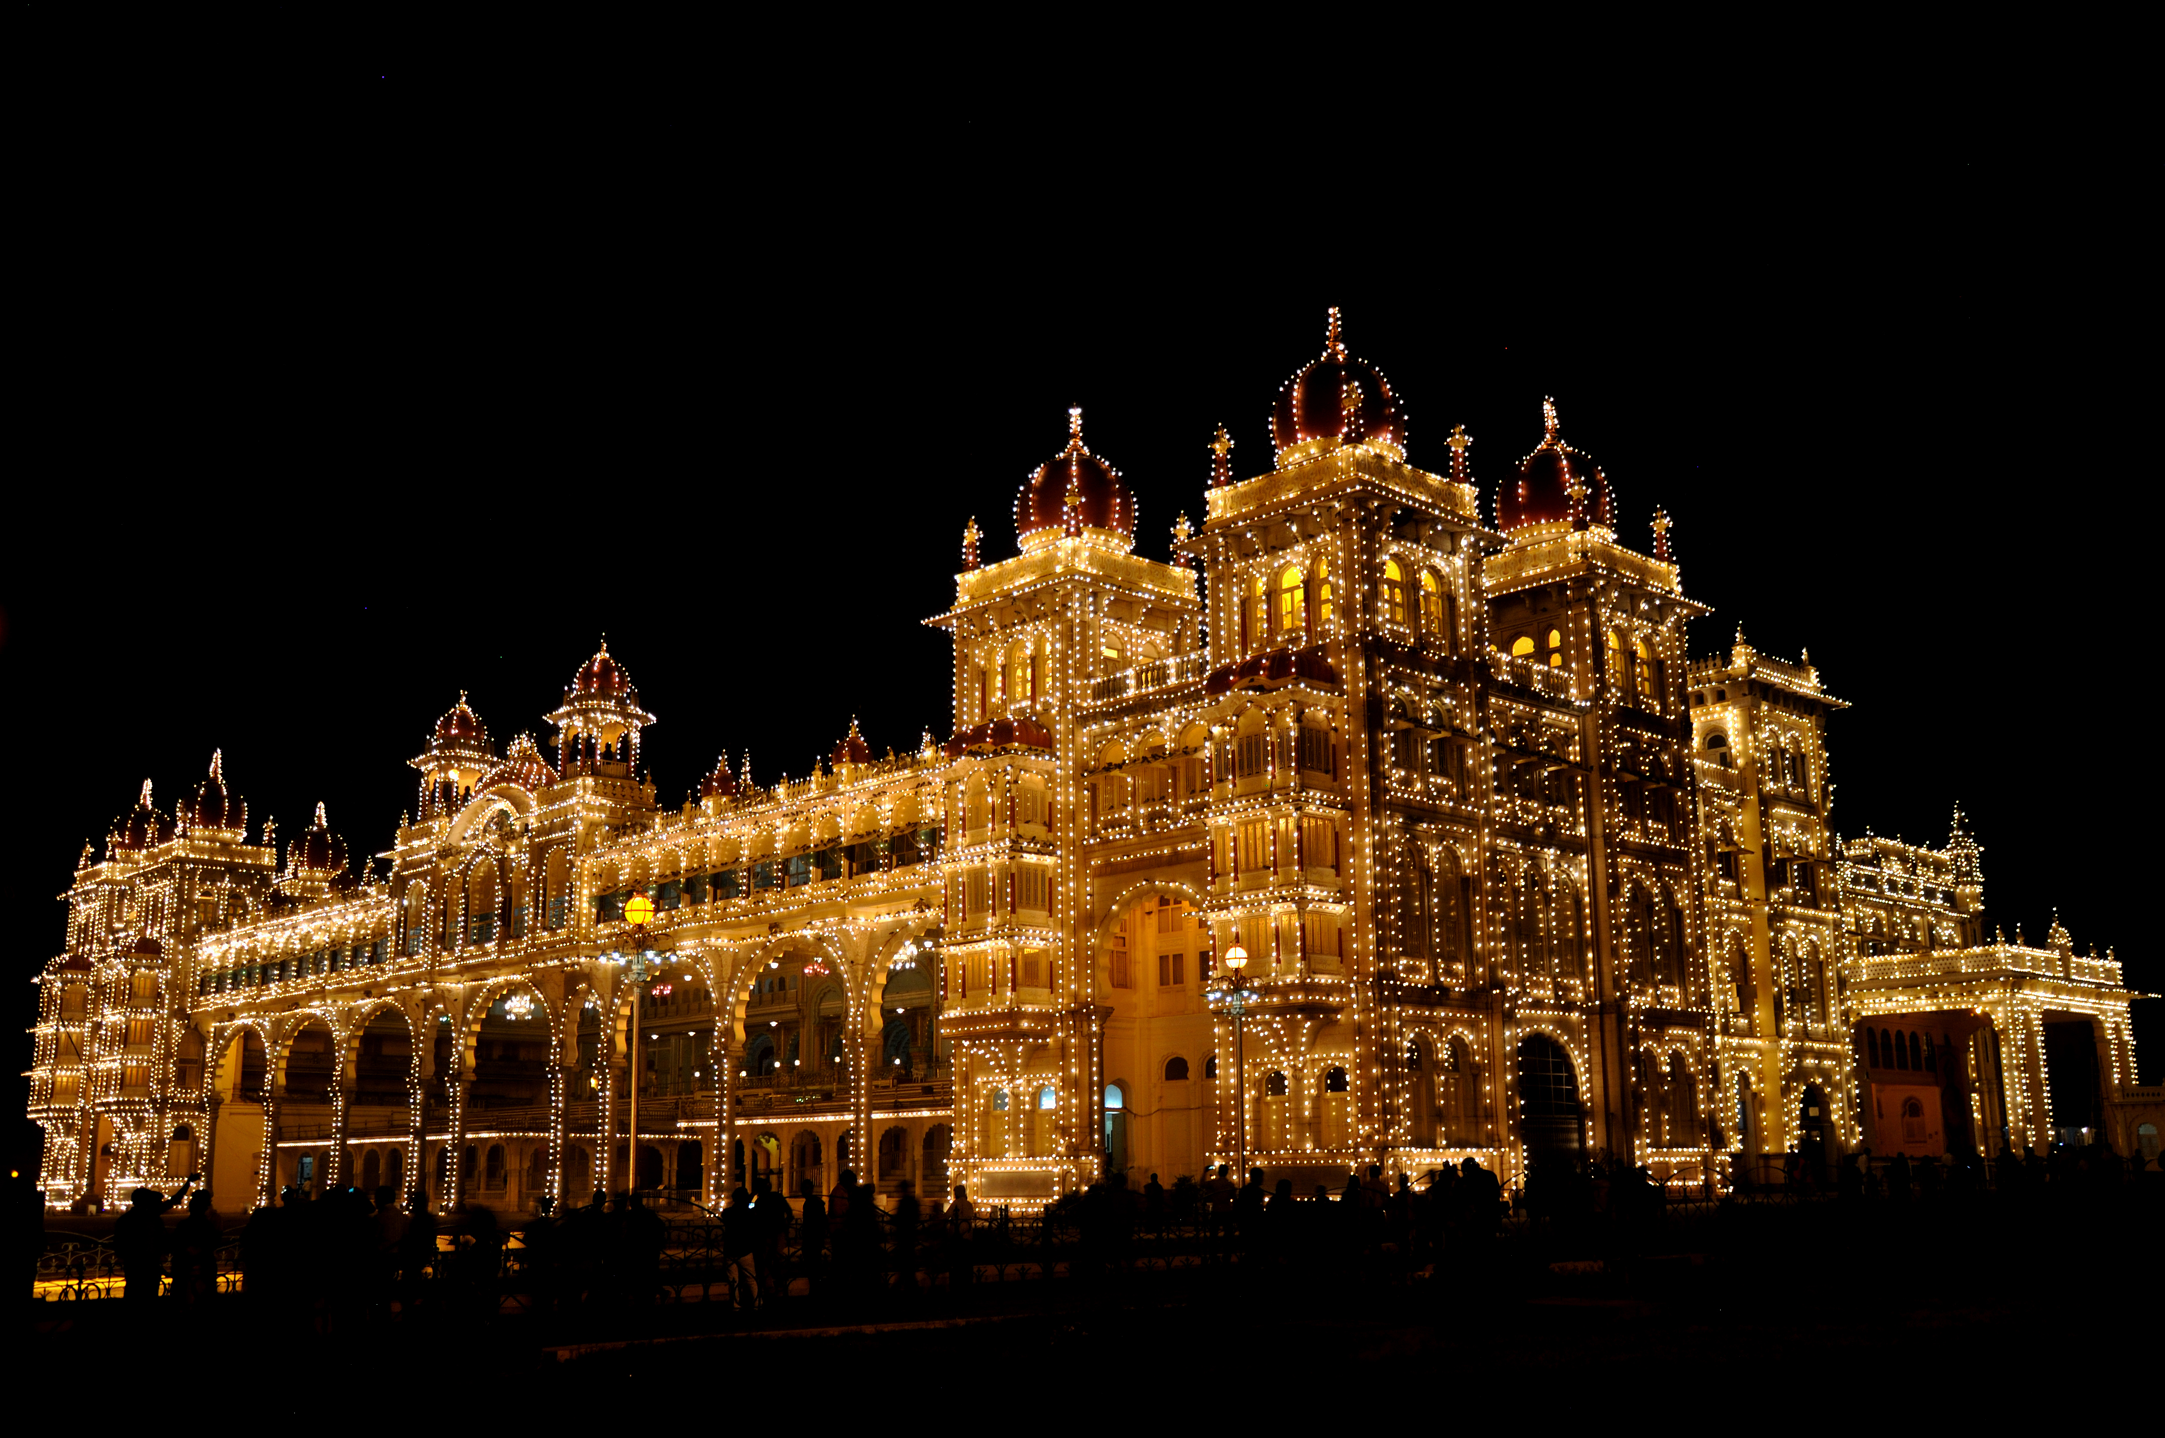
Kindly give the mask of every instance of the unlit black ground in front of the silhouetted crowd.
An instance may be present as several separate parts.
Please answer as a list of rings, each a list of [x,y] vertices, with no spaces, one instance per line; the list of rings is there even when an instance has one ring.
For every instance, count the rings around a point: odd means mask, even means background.
[[[1258,1425],[1635,1412],[1782,1427],[1829,1403],[2078,1401],[2143,1429],[2139,1414],[2159,1408],[2152,1204],[1747,1204],[1661,1237],[1697,1243],[1570,1256],[1567,1241],[1528,1237],[1446,1254],[1425,1276],[1303,1252],[1115,1265],[753,1315],[442,1306],[336,1332],[247,1295],[186,1315],[39,1304],[15,1358],[17,1373],[76,1375],[100,1395],[84,1412],[123,1419],[130,1395],[156,1412],[149,1395],[225,1393],[262,1419],[392,1403],[427,1421],[405,1406],[442,1403],[442,1416],[628,1432],[948,1425],[985,1399],[1022,1399],[1000,1412],[1033,1427],[1234,1412]]]

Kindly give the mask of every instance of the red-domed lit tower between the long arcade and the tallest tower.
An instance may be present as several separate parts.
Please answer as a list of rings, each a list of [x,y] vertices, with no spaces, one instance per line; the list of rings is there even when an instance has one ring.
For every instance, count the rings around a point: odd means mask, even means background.
[[[1119,470],[1082,444],[1082,411],[1070,409],[1067,446],[1015,494],[1020,554],[981,563],[972,520],[955,606],[927,619],[955,637],[942,849],[950,1163],[989,1200],[1050,1198],[1100,1172],[1076,715],[1202,674],[1195,574],[1139,557],[1134,515]]]

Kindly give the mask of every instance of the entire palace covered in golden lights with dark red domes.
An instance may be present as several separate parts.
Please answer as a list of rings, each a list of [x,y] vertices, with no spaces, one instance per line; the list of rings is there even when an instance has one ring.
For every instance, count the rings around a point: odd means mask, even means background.
[[[1241,479],[1221,429],[1171,563],[1070,411],[1018,552],[972,522],[927,622],[946,743],[851,723],[801,780],[721,762],[662,808],[604,645],[546,741],[444,715],[388,864],[320,808],[251,836],[219,758],[173,808],[143,784],[41,975],[48,1202],[206,1169],[225,1211],[712,1204],[851,1165],[1028,1206],[1243,1146],[1301,1191],[1468,1154],[1697,1185],[1786,1150],[2133,1148],[2120,966],[1987,936],[1959,814],[1946,849],[1836,838],[1842,704],[1741,635],[1689,661],[1669,520],[1628,546],[1552,405],[1544,431],[1492,496],[1464,431],[1414,468],[1334,312],[1271,468]]]

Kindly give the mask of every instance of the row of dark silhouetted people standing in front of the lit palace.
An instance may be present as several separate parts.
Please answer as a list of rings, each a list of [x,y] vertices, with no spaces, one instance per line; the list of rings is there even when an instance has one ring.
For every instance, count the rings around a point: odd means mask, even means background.
[[[130,1308],[240,1306],[286,1332],[331,1334],[388,1319],[494,1321],[502,1315],[602,1323],[669,1304],[725,1306],[753,1321],[790,1310],[881,1310],[966,1302],[976,1286],[1037,1282],[1091,1293],[1152,1273],[1221,1271],[1238,1282],[1297,1276],[1336,1286],[1602,1263],[1671,1243],[1691,1224],[1782,1206],[1871,1215],[1957,1213],[2074,1217],[2085,1204],[2156,1202],[2165,1176],[2104,1143],[1910,1159],[1845,1154],[1832,1174],[1797,1154],[1777,1178],[1721,1193],[1661,1185],[1645,1167],[1539,1156],[1522,1187],[1464,1159],[1425,1174],[1368,1165],[1336,1191],[1228,1165],[1163,1185],[1113,1174],[1041,1211],[981,1206],[963,1187],[920,1200],[885,1195],[849,1169],[797,1202],[766,1178],[732,1189],[719,1213],[660,1213],[641,1193],[606,1195],[507,1226],[485,1204],[431,1213],[420,1193],[286,1189],[238,1230],[221,1230],[210,1193],[136,1189],[113,1226],[110,1267]],[[169,1211],[186,1200],[186,1217]],[[80,1267],[80,1260],[78,1260]],[[82,1295],[89,1295],[84,1291]]]

